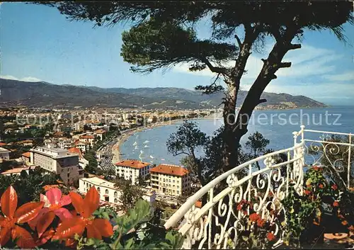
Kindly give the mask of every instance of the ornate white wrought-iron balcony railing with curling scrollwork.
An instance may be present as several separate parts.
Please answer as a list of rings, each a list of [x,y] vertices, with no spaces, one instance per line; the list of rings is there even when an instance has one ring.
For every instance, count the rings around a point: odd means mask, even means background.
[[[321,137],[317,140],[311,134]],[[348,137],[348,143],[335,142],[331,134]],[[346,169],[349,173],[346,185],[349,187],[353,164],[350,157],[354,149],[351,134],[304,130],[302,126],[293,135],[294,147],[265,154],[236,166],[188,198],[164,225],[166,228],[178,228],[183,234],[183,249],[234,249],[245,227],[242,221],[249,216],[249,212],[237,210],[241,200],[251,201],[253,210],[275,225],[273,234],[278,239],[275,246],[282,244],[282,228],[286,221],[285,217],[277,215],[285,212],[282,200],[287,196],[290,185],[294,185],[297,193],[302,194],[306,164],[332,166],[336,171]],[[305,139],[304,135],[310,135],[309,139]],[[339,157],[338,154],[347,157],[346,161],[343,161],[345,157]],[[261,169],[258,170],[257,166]],[[196,208],[195,203],[205,195],[206,203],[202,204],[202,208]],[[274,214],[270,210],[278,212]]]

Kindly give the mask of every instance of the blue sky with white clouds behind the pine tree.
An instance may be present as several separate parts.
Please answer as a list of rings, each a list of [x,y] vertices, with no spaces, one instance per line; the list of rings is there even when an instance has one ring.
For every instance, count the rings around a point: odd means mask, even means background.
[[[131,65],[120,56],[121,33],[129,29],[128,25],[93,28],[93,23],[70,22],[56,8],[35,4],[3,3],[0,11],[1,78],[102,88],[193,89],[212,83],[215,76],[208,69],[189,72],[188,64],[178,64],[166,73],[130,72]],[[326,30],[305,30],[302,48],[288,52],[283,60],[292,62],[292,67],[280,69],[278,79],[265,91],[308,96],[331,105],[353,105],[354,26],[346,24],[344,28],[348,44]],[[208,34],[208,25],[198,25],[200,38]],[[261,58],[273,44],[269,39],[263,53],[253,52],[241,89],[250,88],[262,67]]]

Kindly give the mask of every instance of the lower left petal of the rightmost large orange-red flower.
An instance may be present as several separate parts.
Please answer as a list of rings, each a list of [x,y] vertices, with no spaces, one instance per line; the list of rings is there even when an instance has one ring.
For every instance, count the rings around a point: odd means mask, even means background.
[[[53,239],[67,239],[74,237],[75,234],[82,235],[85,230],[84,222],[81,217],[73,217],[70,220],[64,220],[59,227]]]

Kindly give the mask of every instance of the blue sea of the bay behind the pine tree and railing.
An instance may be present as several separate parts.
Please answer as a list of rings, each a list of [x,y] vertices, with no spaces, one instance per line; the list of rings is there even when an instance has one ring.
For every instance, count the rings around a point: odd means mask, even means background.
[[[194,121],[207,135],[212,135],[217,128],[223,125],[222,118],[217,114],[210,119],[195,119]],[[174,157],[168,152],[166,142],[182,123],[183,121],[178,121],[136,132],[120,147],[121,159],[140,159],[152,164],[181,164],[180,161],[185,155]],[[258,131],[270,140],[268,148],[280,150],[292,147],[294,145],[292,132],[299,131],[300,125],[304,125],[308,130],[354,134],[354,106],[255,110],[250,118],[249,132],[242,137],[241,143],[246,142],[249,135]],[[308,136],[309,139],[319,139],[319,134]],[[306,134],[305,137],[307,137]]]

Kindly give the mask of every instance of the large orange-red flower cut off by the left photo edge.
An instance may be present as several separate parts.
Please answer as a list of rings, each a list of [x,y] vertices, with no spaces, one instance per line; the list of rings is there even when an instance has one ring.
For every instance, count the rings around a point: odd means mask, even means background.
[[[10,237],[21,249],[35,248],[35,241],[30,233],[16,225],[33,220],[40,212],[44,203],[25,203],[17,208],[17,193],[13,186],[9,186],[1,195],[1,210],[5,217],[0,215],[0,246],[4,246]]]

